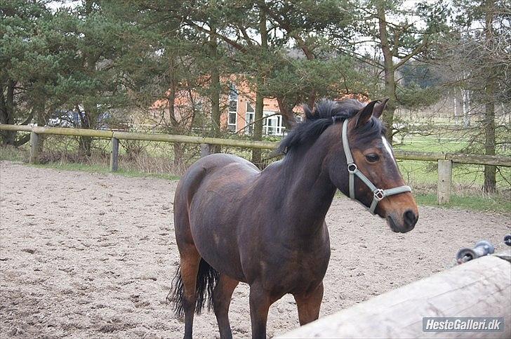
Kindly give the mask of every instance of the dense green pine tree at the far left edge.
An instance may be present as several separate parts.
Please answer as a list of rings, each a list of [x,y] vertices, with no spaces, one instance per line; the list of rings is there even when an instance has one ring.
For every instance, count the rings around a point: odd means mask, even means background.
[[[51,107],[56,74],[68,55],[58,48],[53,16],[45,1],[0,3],[0,122],[27,125],[34,119],[44,124]],[[6,145],[22,145],[29,135],[2,131]]]

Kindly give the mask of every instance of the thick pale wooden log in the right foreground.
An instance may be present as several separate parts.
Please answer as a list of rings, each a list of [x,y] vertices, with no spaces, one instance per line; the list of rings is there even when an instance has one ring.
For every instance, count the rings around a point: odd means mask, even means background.
[[[511,338],[511,255],[488,255],[278,338]],[[499,332],[423,332],[423,317],[503,317]]]

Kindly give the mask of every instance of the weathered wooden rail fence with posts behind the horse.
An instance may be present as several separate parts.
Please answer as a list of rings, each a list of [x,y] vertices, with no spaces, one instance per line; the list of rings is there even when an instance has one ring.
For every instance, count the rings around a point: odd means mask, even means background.
[[[161,142],[184,142],[201,145],[201,157],[209,154],[209,145],[275,149],[278,142],[263,142],[251,140],[234,140],[220,138],[206,138],[190,135],[172,135],[172,134],[151,134],[151,133],[129,133],[119,131],[91,130],[83,128],[60,128],[60,127],[41,127],[41,126],[21,126],[0,124],[0,131],[19,131],[30,133],[30,164],[38,162],[37,141],[39,135],[67,135],[81,136],[91,138],[102,138],[112,140],[112,149],[110,152],[110,171],[119,169],[119,140],[147,140]],[[493,165],[511,167],[511,157],[482,154],[449,154],[449,153],[428,153],[428,152],[407,152],[396,151],[396,159],[418,160],[418,161],[437,161],[438,162],[438,204],[446,204],[451,197],[451,181],[453,163],[456,164],[475,164],[475,165]]]

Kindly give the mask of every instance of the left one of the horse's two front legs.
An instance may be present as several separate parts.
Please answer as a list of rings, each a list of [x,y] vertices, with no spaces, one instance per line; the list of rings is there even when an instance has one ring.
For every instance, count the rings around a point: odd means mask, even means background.
[[[250,319],[252,323],[252,339],[266,338],[266,321],[272,300],[270,293],[260,284],[250,286]]]

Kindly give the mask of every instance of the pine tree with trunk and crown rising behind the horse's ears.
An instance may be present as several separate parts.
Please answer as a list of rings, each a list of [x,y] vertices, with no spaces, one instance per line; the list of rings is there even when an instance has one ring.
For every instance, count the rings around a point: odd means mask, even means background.
[[[383,73],[382,92],[389,98],[383,120],[387,139],[392,142],[396,133],[394,110],[399,105],[400,84],[396,74],[407,62],[427,56],[432,43],[446,30],[448,11],[442,1],[414,3],[413,8],[406,8],[403,0],[359,0],[354,4],[355,39],[341,48],[374,67],[376,74]],[[361,52],[364,46],[372,46],[375,55]],[[417,94],[420,97],[422,93]]]

